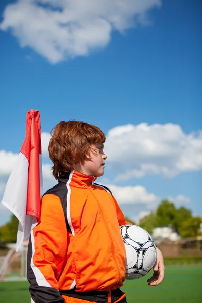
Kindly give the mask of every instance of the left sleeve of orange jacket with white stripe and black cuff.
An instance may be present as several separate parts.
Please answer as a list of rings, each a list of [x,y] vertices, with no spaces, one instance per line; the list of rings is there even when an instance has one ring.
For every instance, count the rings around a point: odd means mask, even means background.
[[[29,291],[35,303],[63,303],[58,278],[67,251],[67,229],[60,198],[42,198],[41,222],[32,230],[27,258]]]

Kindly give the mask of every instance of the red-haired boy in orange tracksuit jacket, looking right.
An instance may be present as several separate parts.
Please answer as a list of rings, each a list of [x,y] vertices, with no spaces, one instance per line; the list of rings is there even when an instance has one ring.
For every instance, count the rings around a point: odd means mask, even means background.
[[[94,125],[61,121],[55,127],[48,150],[58,184],[43,195],[28,247],[35,303],[126,302],[119,288],[126,256],[119,226],[128,222],[110,190],[94,183],[104,173],[104,142]],[[150,285],[163,280],[160,251],[157,259]]]

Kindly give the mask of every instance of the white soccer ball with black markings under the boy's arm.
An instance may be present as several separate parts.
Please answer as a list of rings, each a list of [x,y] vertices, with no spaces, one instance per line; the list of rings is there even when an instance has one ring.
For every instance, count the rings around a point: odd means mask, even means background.
[[[153,268],[157,250],[153,238],[136,225],[120,226],[126,248],[126,279],[138,279]]]

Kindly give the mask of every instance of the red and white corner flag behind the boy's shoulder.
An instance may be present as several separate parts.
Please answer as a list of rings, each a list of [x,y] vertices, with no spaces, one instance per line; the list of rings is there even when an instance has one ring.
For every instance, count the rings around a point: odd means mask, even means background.
[[[26,118],[26,137],[6,185],[2,204],[19,220],[16,251],[40,221],[42,195],[41,126],[39,111]]]

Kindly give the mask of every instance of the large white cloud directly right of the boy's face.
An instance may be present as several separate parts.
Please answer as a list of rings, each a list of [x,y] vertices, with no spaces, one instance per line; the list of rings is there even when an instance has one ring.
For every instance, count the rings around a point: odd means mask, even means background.
[[[107,134],[105,153],[115,181],[147,174],[174,177],[202,169],[202,131],[185,134],[172,123],[117,126]]]

